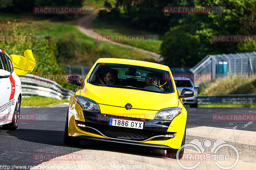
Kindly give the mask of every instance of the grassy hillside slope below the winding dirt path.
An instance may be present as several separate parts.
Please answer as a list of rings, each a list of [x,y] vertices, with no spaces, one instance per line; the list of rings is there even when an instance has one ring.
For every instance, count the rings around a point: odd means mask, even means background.
[[[59,47],[67,49],[71,53],[69,58],[65,58],[63,56],[64,52],[58,48],[57,59],[64,58],[65,60],[58,60],[63,64],[92,66],[99,58],[106,57],[125,59],[136,57],[137,60],[154,61],[151,57],[138,50],[108,42],[97,42],[95,39],[86,36],[76,27],[77,19],[62,22],[29,14],[24,14],[23,16],[12,14],[9,17],[8,14],[0,13],[0,32],[4,34],[7,30],[12,29],[13,25],[19,24],[21,29],[27,33],[32,33],[32,36],[44,36],[49,42],[53,42],[56,45],[61,41],[61,46]],[[71,41],[70,37],[75,37],[75,41]],[[8,49],[5,50],[8,53]]]

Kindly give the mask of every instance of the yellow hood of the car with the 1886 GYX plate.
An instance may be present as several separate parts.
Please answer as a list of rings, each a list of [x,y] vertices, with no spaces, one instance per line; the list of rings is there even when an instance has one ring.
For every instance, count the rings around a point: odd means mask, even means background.
[[[90,98],[98,104],[125,107],[127,103],[133,109],[161,110],[178,106],[175,93],[163,94],[134,89],[102,87],[86,83],[80,95]]]

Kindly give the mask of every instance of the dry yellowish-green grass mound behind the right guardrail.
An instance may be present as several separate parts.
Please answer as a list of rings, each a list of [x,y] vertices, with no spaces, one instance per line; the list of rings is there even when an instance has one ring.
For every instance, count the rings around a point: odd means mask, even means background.
[[[204,88],[199,95],[255,94],[256,76],[230,76],[217,79]]]

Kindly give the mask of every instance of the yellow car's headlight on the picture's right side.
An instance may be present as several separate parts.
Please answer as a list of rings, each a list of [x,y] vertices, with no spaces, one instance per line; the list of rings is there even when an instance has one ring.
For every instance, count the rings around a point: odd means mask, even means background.
[[[159,110],[156,113],[154,120],[172,120],[174,117],[181,113],[181,108],[173,107],[168,109]]]

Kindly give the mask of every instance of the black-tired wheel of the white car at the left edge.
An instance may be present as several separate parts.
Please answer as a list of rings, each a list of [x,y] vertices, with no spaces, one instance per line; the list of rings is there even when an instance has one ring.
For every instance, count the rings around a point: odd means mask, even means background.
[[[4,130],[14,131],[18,128],[20,122],[20,96],[18,97],[14,113],[12,116],[12,122],[9,124],[3,124],[2,127]]]

